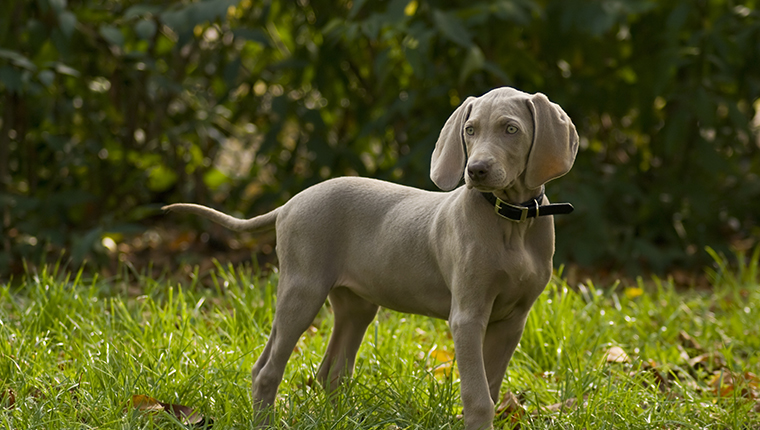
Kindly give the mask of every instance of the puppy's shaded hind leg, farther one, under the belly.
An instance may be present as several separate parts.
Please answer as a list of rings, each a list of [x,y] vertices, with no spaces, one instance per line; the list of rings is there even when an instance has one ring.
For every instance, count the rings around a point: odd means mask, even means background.
[[[378,306],[352,293],[345,287],[330,291],[330,304],[335,315],[330,342],[317,371],[317,380],[329,392],[351,377],[356,353],[367,327],[375,318]]]

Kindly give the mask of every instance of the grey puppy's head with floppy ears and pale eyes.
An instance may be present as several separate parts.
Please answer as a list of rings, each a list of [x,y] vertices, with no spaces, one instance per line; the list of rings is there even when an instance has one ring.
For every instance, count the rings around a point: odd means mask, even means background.
[[[577,152],[578,133],[559,105],[541,93],[497,88],[468,97],[446,121],[430,179],[445,191],[463,175],[480,191],[508,189],[516,181],[534,189],[570,171]]]

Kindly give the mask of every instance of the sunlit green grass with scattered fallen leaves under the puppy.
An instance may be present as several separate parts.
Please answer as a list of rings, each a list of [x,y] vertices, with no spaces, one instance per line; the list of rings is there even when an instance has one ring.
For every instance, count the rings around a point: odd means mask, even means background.
[[[760,428],[758,253],[732,268],[714,255],[710,291],[657,278],[571,288],[557,276],[502,387],[522,406],[497,427]],[[0,428],[186,427],[138,410],[137,395],[188,406],[215,429],[253,427],[249,372],[269,332],[276,273],[218,265],[206,286],[197,272],[185,285],[82,273],[53,266],[0,286]],[[382,311],[350,389],[330,399],[309,380],[331,319],[323,308],[294,351],[278,428],[463,427],[445,322]]]

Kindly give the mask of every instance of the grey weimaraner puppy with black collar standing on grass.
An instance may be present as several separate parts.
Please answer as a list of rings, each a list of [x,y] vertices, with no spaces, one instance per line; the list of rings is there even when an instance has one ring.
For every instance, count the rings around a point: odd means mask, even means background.
[[[276,229],[278,299],[252,370],[255,410],[274,403],[296,342],[329,298],[335,327],[317,372],[327,390],[352,374],[379,306],[447,319],[465,428],[489,429],[528,312],[552,274],[551,215],[572,210],[549,204],[543,186],[570,170],[577,148],[558,105],[498,88],[467,98],[440,133],[430,177],[449,192],[344,177],[247,220],[193,204],[164,209],[233,230]]]

